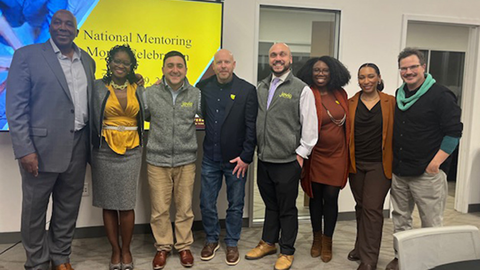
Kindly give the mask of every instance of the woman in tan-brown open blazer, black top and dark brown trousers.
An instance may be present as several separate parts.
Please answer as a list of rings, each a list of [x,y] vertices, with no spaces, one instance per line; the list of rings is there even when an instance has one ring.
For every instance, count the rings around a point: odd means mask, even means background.
[[[349,99],[350,187],[357,205],[357,240],[348,254],[360,260],[358,270],[377,268],[383,206],[392,178],[395,97],[382,93],[384,83],[375,64],[360,66],[359,91]]]

